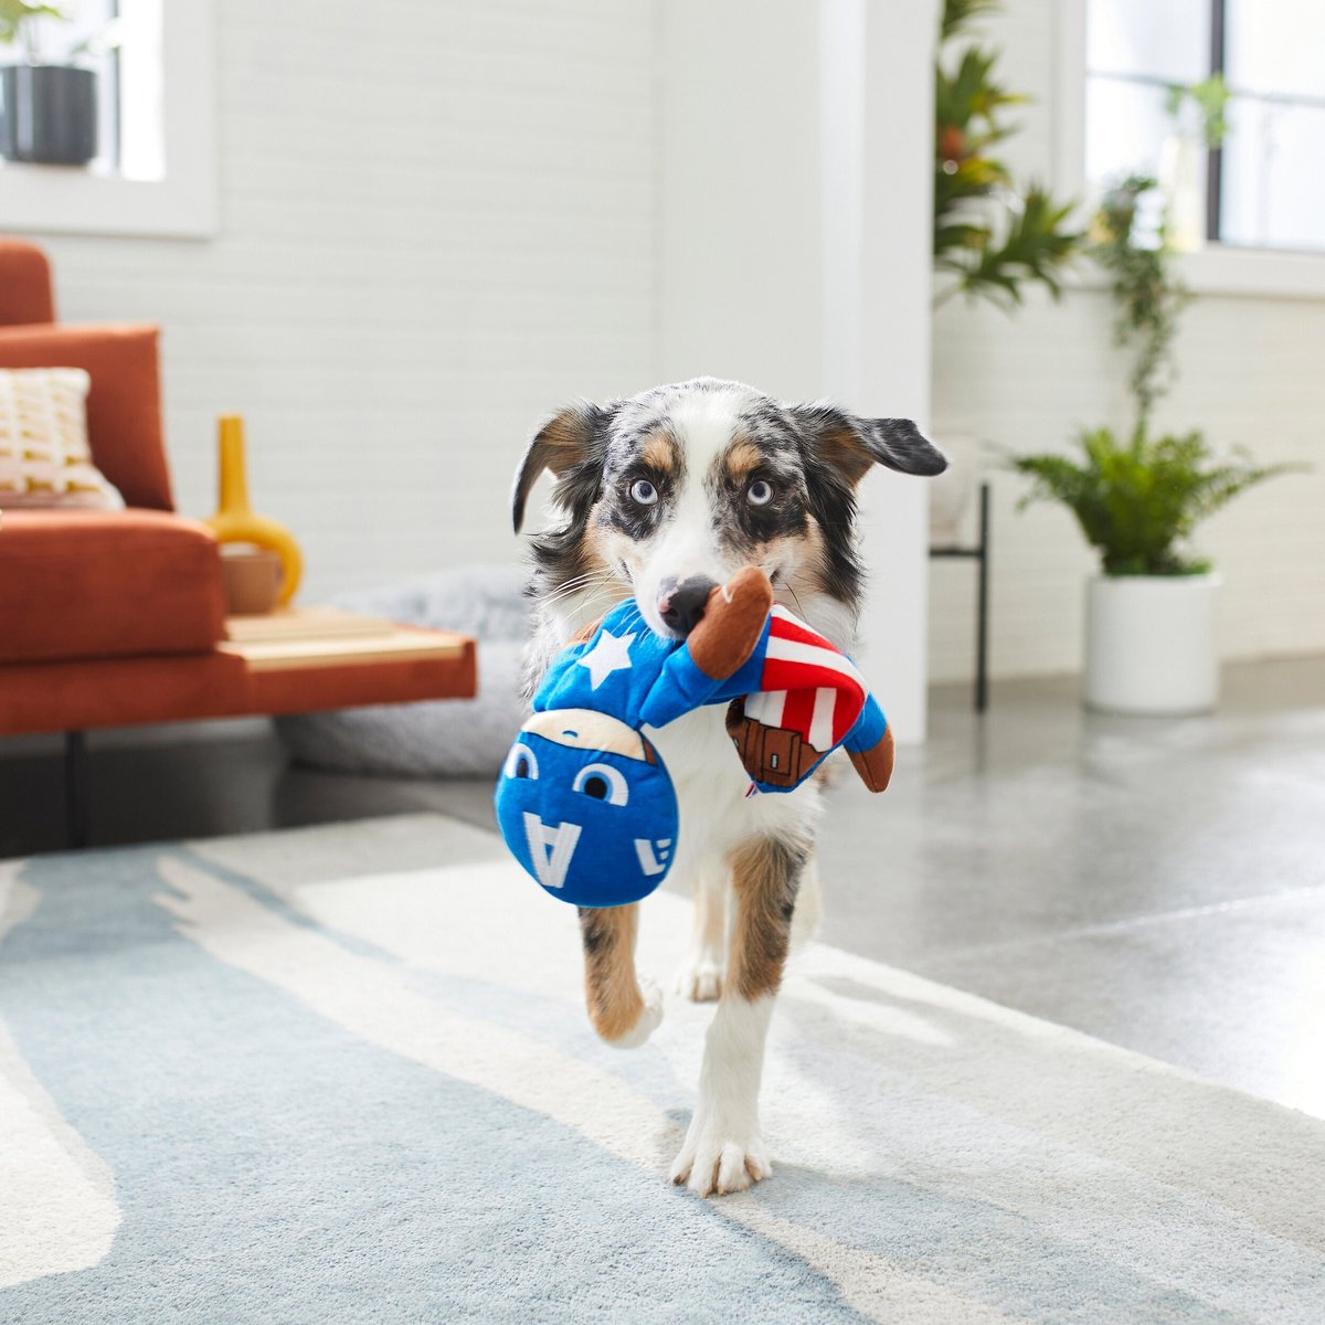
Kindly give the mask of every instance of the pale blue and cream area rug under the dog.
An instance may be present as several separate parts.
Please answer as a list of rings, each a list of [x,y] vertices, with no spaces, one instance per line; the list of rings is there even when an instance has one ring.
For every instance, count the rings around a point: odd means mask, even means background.
[[[599,1044],[437,816],[0,864],[0,931],[3,1321],[1325,1320],[1325,1125],[824,946],[774,1177],[669,1186],[712,1010]]]

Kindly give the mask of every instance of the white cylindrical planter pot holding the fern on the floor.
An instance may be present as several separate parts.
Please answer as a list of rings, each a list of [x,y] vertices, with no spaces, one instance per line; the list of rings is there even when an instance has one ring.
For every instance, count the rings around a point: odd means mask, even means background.
[[[1218,575],[1086,582],[1085,702],[1109,713],[1204,713],[1219,698]]]

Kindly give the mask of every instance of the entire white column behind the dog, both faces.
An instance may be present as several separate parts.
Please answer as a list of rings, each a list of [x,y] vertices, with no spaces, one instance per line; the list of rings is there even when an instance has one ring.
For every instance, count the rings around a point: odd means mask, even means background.
[[[929,412],[937,0],[661,0],[659,375]],[[861,490],[861,661],[925,731],[926,493]]]

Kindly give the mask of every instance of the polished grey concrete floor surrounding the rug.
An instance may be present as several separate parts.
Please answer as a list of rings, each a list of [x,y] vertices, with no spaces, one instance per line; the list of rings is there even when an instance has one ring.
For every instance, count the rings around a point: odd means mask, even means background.
[[[1325,659],[1228,668],[1181,721],[1085,714],[1071,681],[978,718],[945,688],[931,733],[886,795],[831,792],[828,942],[1325,1117]],[[99,845],[492,824],[486,782],[290,768],[265,734],[91,751]],[[60,759],[0,758],[0,857],[58,849]]]

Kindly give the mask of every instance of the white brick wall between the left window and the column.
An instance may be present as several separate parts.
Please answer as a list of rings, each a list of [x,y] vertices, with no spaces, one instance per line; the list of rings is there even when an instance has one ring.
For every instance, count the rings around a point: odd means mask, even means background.
[[[648,0],[225,0],[221,231],[49,237],[61,315],[164,327],[180,507],[215,425],[307,596],[515,554],[511,470],[653,359]]]

